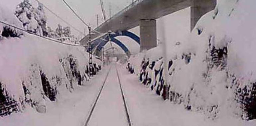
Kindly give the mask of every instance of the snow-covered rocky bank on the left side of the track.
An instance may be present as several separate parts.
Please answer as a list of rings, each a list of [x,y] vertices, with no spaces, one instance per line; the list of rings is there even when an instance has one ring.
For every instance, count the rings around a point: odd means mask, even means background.
[[[3,4],[0,20],[23,27]],[[0,28],[1,34],[16,34],[0,36],[0,116],[28,107],[44,113],[46,102],[58,101],[89,81],[89,58],[84,47],[56,43],[3,24]],[[101,62],[93,61],[98,72]]]

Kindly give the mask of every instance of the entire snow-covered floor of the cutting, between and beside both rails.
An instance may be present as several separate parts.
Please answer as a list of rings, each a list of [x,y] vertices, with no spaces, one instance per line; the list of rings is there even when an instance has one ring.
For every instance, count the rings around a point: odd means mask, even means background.
[[[128,73],[123,65],[112,64],[105,86],[89,120],[89,126],[128,125],[115,67],[119,72],[133,126],[254,126],[256,123],[255,120],[241,121],[230,116],[209,120],[201,113],[187,111],[181,105],[165,101],[160,96],[149,92],[145,86],[141,85],[136,75]],[[105,67],[96,78],[76,92],[67,94],[54,104],[47,103],[49,104],[47,113],[38,114],[33,109],[26,109],[24,113],[1,118],[0,125],[83,126],[109,68],[110,66]]]

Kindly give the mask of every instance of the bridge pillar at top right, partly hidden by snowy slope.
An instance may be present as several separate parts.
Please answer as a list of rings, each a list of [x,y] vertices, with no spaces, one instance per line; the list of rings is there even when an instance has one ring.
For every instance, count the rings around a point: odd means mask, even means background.
[[[213,10],[216,6],[216,0],[191,0],[191,31],[197,21],[207,12]]]

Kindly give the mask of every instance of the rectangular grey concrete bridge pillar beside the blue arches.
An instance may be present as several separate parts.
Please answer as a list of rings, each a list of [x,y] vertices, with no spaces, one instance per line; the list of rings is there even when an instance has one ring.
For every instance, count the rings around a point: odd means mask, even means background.
[[[140,51],[157,46],[157,24],[155,19],[140,20]]]

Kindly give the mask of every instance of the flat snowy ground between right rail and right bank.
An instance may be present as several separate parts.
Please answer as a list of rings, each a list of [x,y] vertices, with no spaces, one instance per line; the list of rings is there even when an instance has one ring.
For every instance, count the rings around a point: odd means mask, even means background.
[[[133,126],[254,126],[256,124],[256,120],[241,121],[232,116],[210,120],[201,113],[187,111],[183,106],[165,101],[150,92],[141,85],[136,75],[128,73],[122,65],[117,66],[121,73],[120,81]]]

